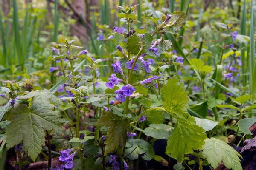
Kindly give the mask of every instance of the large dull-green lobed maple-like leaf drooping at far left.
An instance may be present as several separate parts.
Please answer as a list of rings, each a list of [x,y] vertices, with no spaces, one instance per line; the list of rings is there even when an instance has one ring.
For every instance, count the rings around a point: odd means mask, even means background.
[[[45,98],[41,98],[45,99]],[[23,141],[24,150],[33,161],[44,145],[45,130],[59,129],[58,113],[49,103],[32,103],[28,108],[19,105],[8,111],[5,119],[11,121],[6,129],[6,147],[11,148]]]

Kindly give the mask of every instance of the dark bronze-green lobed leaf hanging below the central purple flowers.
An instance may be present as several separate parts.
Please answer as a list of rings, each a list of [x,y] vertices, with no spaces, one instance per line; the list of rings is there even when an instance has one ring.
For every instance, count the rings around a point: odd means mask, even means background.
[[[105,153],[112,152],[119,146],[119,142],[122,146],[125,146],[127,139],[127,132],[130,130],[130,124],[127,119],[122,119],[112,113],[106,113],[102,115],[99,121],[96,123],[97,126],[109,127],[107,133],[107,140],[105,141]]]

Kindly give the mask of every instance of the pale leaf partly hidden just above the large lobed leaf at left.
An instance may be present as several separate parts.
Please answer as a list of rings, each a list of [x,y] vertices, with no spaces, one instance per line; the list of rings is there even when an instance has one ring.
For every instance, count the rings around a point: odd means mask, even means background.
[[[58,97],[56,97],[52,92],[44,89],[44,90],[36,90],[29,92],[28,94],[21,96],[19,99],[29,99],[32,98],[32,102],[40,102],[40,103],[49,103],[52,102],[56,105],[61,105],[62,102],[58,100]],[[53,105],[52,105],[53,106]]]

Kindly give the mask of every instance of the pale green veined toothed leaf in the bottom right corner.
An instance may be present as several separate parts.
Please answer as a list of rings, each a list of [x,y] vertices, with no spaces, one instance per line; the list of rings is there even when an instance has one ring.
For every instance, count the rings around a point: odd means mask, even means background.
[[[242,170],[239,159],[241,155],[227,143],[215,138],[206,139],[202,149],[203,158],[213,168],[217,168],[223,162],[228,169]]]

